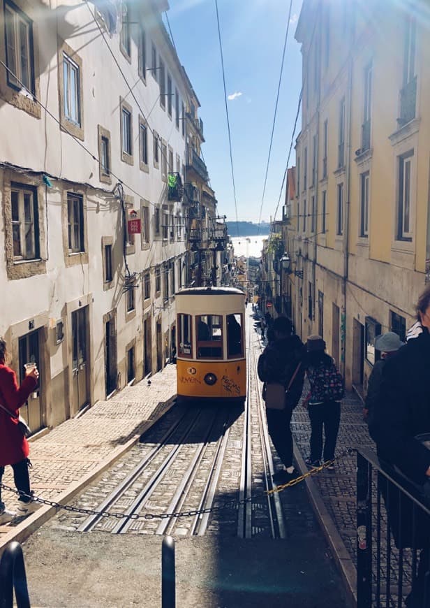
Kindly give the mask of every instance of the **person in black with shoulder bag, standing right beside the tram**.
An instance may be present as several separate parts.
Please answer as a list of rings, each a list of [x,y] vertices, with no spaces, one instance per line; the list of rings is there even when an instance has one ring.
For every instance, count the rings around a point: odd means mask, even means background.
[[[269,390],[270,384],[281,384],[280,393],[283,400],[281,409],[271,409],[271,404],[267,398],[265,399],[267,428],[283,463],[283,470],[273,476],[276,484],[285,484],[297,477],[297,471],[292,465],[290,423],[292,410],[299,402],[303,389],[304,369],[301,365],[303,344],[297,335],[291,334],[291,329],[289,319],[277,317],[273,323],[274,342],[265,348],[258,359],[258,377],[265,382],[265,388]]]

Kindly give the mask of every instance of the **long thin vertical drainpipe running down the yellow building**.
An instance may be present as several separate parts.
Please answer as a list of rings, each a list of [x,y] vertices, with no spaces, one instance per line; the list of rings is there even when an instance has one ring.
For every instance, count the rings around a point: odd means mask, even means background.
[[[348,282],[348,240],[349,240],[349,216],[350,216],[350,161],[351,161],[351,104],[353,91],[353,55],[350,50],[348,59],[348,91],[346,96],[346,168],[345,168],[345,224],[343,238],[343,277],[342,277],[342,310],[341,310],[341,362],[340,368],[343,378],[346,372],[346,285]]]

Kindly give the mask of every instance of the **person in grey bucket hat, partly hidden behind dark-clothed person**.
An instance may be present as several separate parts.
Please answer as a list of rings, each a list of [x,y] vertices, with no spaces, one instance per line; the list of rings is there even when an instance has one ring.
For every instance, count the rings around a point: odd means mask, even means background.
[[[399,336],[394,331],[387,331],[375,338],[375,350],[380,351],[380,359],[373,365],[373,370],[367,383],[367,393],[363,417],[369,424],[369,433],[372,436],[373,417],[376,407],[378,407],[380,383],[383,379],[383,369],[385,362],[394,356],[399,348],[404,345]]]

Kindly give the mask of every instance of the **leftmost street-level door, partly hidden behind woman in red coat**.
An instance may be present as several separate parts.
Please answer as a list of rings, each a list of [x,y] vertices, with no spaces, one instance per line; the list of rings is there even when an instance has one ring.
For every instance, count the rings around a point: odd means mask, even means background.
[[[23,335],[18,342],[20,351],[20,380],[24,379],[25,363],[37,363],[39,371],[39,382],[36,390],[30,393],[27,403],[20,407],[21,415],[27,420],[33,432],[42,428],[42,408],[40,394],[43,388],[43,377],[40,370],[40,340],[39,331],[32,331]]]

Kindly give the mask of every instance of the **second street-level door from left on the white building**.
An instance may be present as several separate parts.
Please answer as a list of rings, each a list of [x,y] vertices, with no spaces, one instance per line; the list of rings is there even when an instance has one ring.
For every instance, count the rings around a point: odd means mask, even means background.
[[[72,382],[73,403],[71,414],[78,412],[89,402],[88,381],[88,344],[87,328],[88,307],[72,312]]]

